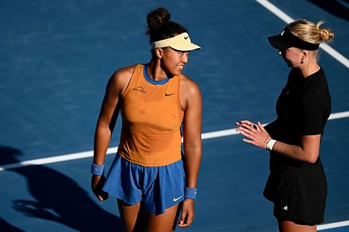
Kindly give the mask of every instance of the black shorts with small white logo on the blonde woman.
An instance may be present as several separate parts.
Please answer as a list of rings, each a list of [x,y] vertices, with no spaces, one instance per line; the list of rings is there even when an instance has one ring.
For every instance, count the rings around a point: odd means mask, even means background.
[[[270,172],[263,194],[274,202],[274,216],[279,221],[311,226],[324,221],[327,181],[318,161],[306,169]]]

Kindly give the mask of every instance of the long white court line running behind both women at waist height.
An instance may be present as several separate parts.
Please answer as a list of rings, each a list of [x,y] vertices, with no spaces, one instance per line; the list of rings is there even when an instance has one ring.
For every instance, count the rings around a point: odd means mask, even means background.
[[[349,117],[349,111],[343,111],[339,113],[334,113],[329,116],[329,120],[334,120],[334,119],[339,119],[339,118],[348,118]],[[218,137],[225,137],[225,136],[230,136],[234,134],[239,134],[239,132],[236,131],[236,128],[228,129],[228,130],[218,130],[215,132],[207,132],[207,133],[202,133],[201,137],[202,139],[214,139]],[[117,153],[117,147],[112,147],[107,149],[107,155],[112,154],[112,153]],[[41,159],[35,159],[35,160],[27,160],[27,161],[22,161],[14,164],[6,164],[0,166],[0,171],[5,171],[8,169],[15,169],[18,167],[25,167],[25,166],[30,166],[30,165],[40,165],[40,164],[52,164],[56,162],[64,162],[64,161],[69,161],[69,160],[78,160],[82,158],[87,158],[87,157],[92,157],[94,156],[94,151],[89,150],[89,151],[84,151],[81,153],[72,153],[68,155],[57,155],[53,157],[46,157],[46,158],[41,158]]]

